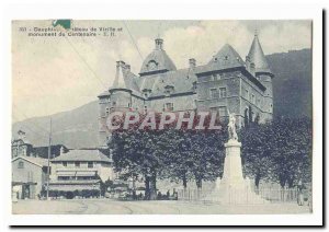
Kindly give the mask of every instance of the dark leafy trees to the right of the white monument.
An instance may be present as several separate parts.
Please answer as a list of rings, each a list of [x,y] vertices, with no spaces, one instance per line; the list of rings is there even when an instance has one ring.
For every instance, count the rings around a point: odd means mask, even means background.
[[[311,181],[311,123],[308,118],[275,118],[264,125],[241,129],[245,173],[293,187],[303,178]]]

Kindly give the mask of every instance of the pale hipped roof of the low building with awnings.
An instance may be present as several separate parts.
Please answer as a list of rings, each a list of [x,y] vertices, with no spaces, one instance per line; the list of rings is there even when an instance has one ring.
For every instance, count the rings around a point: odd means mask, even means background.
[[[70,150],[69,152],[64,153],[52,160],[52,162],[60,161],[98,161],[106,163],[112,162],[111,159],[109,159],[99,150]]]

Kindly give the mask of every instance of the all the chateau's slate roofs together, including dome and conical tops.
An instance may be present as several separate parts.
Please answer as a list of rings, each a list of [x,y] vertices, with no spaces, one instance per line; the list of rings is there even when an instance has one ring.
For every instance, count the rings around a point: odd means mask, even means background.
[[[193,93],[193,83],[197,81],[196,74],[234,68],[243,68],[243,70],[247,71],[243,59],[229,44],[225,44],[207,65],[177,70],[172,60],[162,49],[162,39],[156,39],[156,48],[143,62],[139,73],[140,77],[134,74],[131,70],[126,70],[125,63],[118,61],[121,68],[111,89],[127,89],[131,90],[134,95],[143,98],[145,91],[150,91],[148,97],[166,96],[166,86],[173,86],[173,92],[171,92],[170,95],[181,93],[190,94]],[[251,56],[250,58],[257,60],[258,66],[261,67],[261,69],[259,68],[258,70],[268,70],[268,62],[257,36],[249,54]],[[148,67],[152,61],[157,63],[155,69]],[[264,88],[253,76],[249,78],[257,82],[260,88]],[[122,84],[120,85],[120,83]],[[107,95],[110,95],[110,92],[105,91],[99,96]]]

